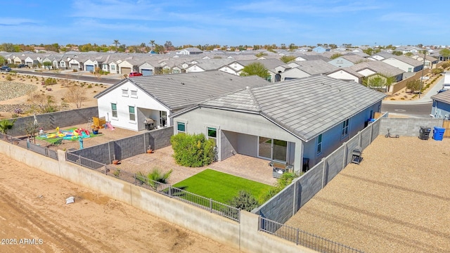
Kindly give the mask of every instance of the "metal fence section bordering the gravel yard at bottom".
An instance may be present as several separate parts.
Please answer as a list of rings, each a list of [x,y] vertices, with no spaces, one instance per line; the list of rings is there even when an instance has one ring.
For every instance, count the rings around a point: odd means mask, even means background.
[[[304,247],[308,247],[309,249],[314,249],[317,252],[363,253],[363,251],[359,249],[342,245],[339,242],[333,242],[332,240],[322,238],[319,235],[313,235],[311,233],[307,233],[306,231],[301,231],[299,228],[293,228],[276,221],[271,221],[263,218],[262,216],[259,216],[259,231],[276,235],[279,238],[294,242],[296,245],[302,245]]]

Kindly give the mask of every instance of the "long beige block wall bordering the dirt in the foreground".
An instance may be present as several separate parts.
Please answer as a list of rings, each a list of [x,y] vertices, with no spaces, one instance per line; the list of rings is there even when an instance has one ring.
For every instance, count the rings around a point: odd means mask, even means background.
[[[63,150],[58,150],[59,160],[53,160],[18,145],[0,141],[0,152],[30,167],[60,176],[243,252],[314,252],[312,249],[259,231],[259,216],[256,214],[241,211],[240,223],[237,223],[193,205],[68,162],[65,160]]]

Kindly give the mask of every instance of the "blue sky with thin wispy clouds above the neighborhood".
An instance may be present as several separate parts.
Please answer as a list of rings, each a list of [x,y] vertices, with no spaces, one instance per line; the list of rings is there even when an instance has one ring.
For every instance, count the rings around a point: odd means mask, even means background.
[[[448,7],[443,0],[15,0],[2,8],[0,44],[448,45]]]

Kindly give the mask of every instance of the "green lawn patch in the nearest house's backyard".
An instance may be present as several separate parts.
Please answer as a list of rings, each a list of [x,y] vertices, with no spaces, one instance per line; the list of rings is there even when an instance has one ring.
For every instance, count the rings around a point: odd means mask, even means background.
[[[247,190],[259,199],[268,190],[274,188],[264,183],[243,179],[212,169],[206,169],[195,174],[184,181],[176,183],[174,187],[203,197],[212,198],[221,203],[226,203],[238,195],[239,190]]]

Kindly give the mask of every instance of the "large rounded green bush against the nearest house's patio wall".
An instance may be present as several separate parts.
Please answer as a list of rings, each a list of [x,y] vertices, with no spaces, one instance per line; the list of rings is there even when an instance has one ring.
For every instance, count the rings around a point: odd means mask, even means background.
[[[204,134],[176,134],[170,138],[176,164],[186,167],[202,167],[214,162],[213,140]]]

